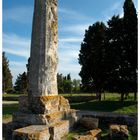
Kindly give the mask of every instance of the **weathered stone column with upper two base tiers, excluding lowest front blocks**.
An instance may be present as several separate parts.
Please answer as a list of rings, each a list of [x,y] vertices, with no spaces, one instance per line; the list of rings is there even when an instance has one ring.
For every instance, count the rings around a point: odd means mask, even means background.
[[[50,126],[66,119],[64,114],[70,110],[68,100],[58,96],[57,90],[57,28],[57,0],[35,0],[29,91],[28,96],[19,97],[19,110],[13,114],[15,128]]]

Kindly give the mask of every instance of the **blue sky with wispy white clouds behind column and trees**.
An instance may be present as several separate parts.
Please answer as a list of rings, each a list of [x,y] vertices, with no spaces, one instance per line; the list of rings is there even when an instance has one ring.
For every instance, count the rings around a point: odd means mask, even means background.
[[[123,16],[124,0],[58,0],[58,72],[80,79],[78,55],[85,30],[113,15]],[[137,0],[134,0],[138,7]],[[34,0],[3,0],[3,51],[15,82],[30,56]]]

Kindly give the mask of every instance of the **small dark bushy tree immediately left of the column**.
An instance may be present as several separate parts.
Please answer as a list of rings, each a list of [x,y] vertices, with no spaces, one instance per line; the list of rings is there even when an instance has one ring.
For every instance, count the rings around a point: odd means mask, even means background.
[[[17,91],[21,94],[26,94],[27,93],[28,81],[27,81],[26,72],[23,72],[22,74],[19,74],[17,76],[14,89],[15,89],[15,91]]]

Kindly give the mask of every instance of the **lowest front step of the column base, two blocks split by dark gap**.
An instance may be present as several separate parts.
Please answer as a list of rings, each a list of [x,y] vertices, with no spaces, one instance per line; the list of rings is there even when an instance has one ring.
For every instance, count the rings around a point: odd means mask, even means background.
[[[69,121],[60,121],[51,126],[30,125],[14,130],[13,140],[61,140],[69,132]]]

